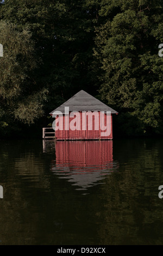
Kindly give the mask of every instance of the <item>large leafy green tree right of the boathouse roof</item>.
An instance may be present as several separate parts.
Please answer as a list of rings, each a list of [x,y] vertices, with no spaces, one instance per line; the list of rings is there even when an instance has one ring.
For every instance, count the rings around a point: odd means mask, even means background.
[[[121,131],[161,132],[163,41],[161,1],[102,0],[95,57],[102,99],[121,112]]]

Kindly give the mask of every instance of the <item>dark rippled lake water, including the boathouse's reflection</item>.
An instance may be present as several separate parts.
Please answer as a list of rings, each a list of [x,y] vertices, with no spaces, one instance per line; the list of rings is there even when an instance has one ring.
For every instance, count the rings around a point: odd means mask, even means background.
[[[162,143],[0,141],[0,245],[163,245]]]

